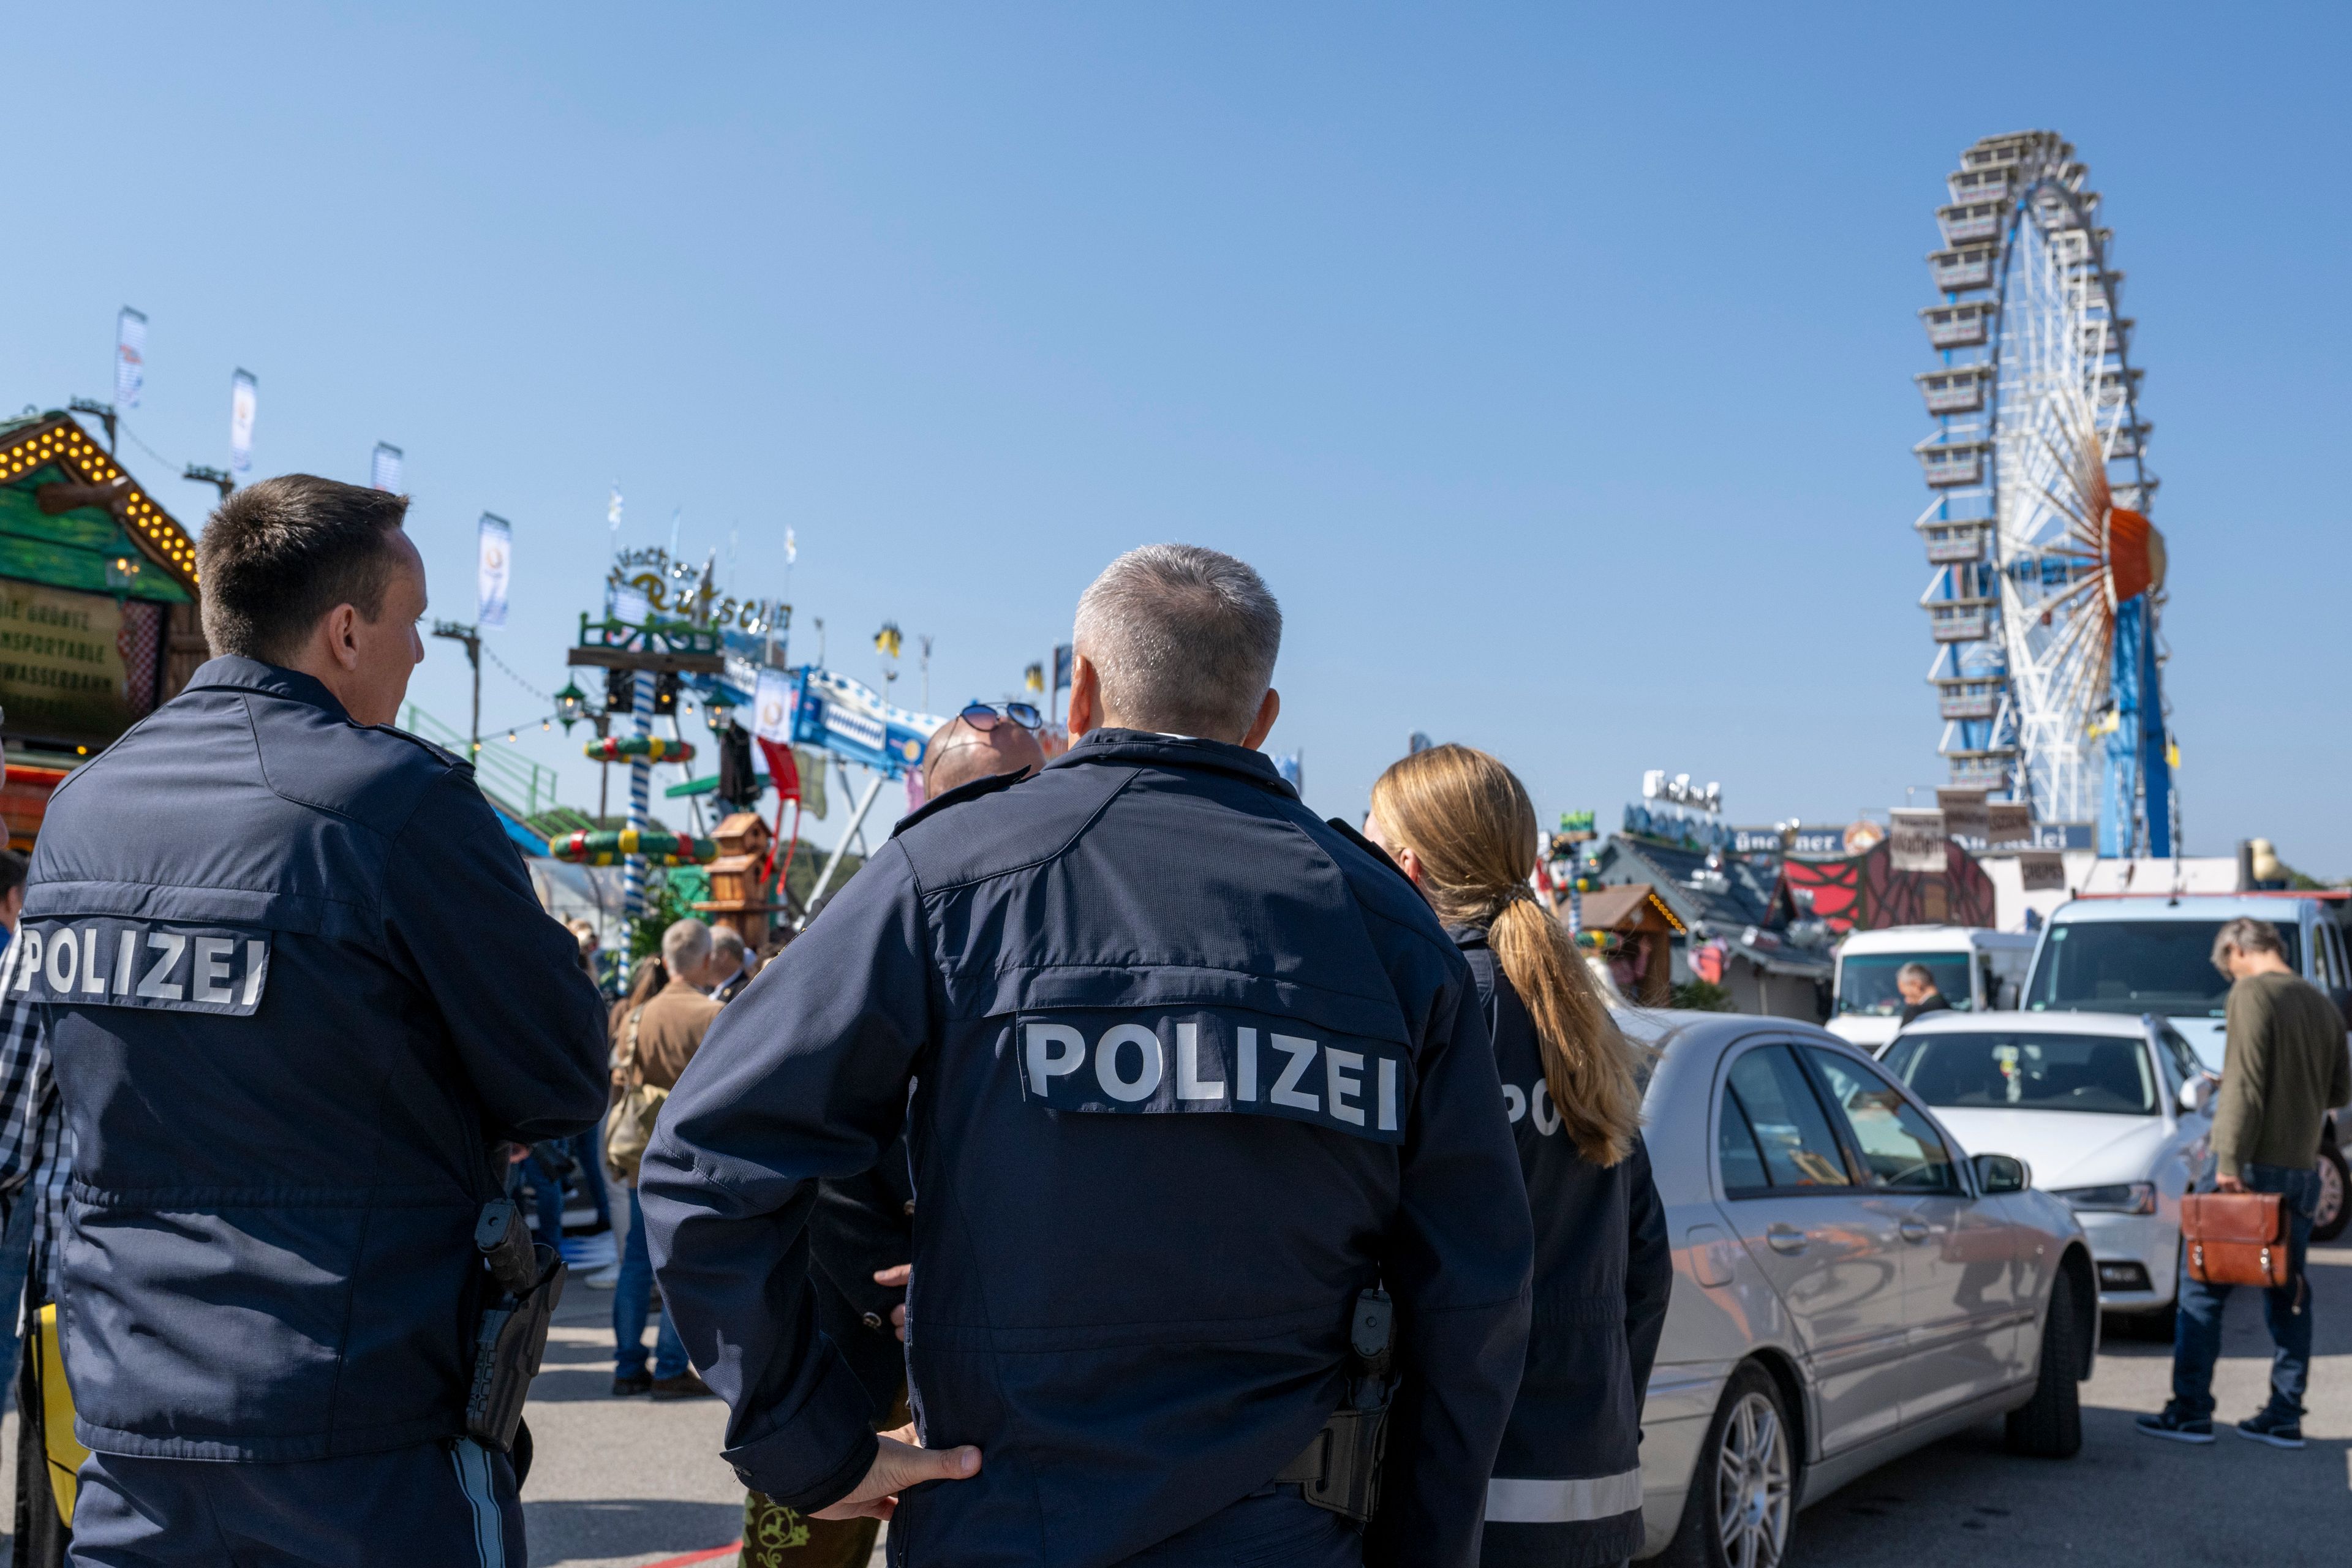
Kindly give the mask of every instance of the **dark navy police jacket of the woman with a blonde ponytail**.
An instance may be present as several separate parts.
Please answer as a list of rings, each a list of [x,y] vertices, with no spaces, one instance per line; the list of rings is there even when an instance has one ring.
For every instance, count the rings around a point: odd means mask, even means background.
[[[1613,1166],[1559,1126],[1536,1020],[1486,933],[1470,959],[1536,1222],[1534,1326],[1486,1493],[1482,1568],[1606,1568],[1642,1549],[1642,1396],[1675,1258],[1649,1147]]]

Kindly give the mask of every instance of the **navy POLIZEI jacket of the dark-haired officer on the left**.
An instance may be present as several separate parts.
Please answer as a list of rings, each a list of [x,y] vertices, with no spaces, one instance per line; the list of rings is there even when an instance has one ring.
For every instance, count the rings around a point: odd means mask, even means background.
[[[75,1436],[318,1460],[463,1432],[492,1145],[607,1095],[602,1001],[473,769],[214,658],[59,785],[16,950],[75,1138]]]

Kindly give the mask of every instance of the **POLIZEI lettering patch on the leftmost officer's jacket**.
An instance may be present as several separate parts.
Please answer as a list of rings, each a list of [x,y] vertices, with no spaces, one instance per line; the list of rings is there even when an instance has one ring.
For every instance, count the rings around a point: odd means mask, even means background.
[[[153,919],[28,919],[0,959],[0,987],[59,1006],[249,1018],[268,978],[268,933]]]

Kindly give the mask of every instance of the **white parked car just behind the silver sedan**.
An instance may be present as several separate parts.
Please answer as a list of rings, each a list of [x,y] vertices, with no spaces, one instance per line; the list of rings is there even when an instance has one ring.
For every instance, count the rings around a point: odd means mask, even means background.
[[[2213,1077],[2176,1027],[2124,1013],[1929,1013],[1879,1060],[1964,1150],[2025,1159],[2082,1220],[2098,1305],[2171,1338],[2180,1194],[2213,1131]]]

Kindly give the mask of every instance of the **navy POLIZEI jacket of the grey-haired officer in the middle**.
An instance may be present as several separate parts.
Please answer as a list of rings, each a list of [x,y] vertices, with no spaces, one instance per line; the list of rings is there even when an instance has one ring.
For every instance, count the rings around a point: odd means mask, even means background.
[[[950,792],[713,1025],[637,1194],[727,1458],[790,1507],[875,1455],[804,1229],[901,1124],[915,1418],[983,1467],[903,1497],[894,1561],[1094,1568],[1263,1490],[1374,1281],[1402,1387],[1367,1556],[1477,1561],[1531,1246],[1477,990],[1263,755],[1094,731]]]

